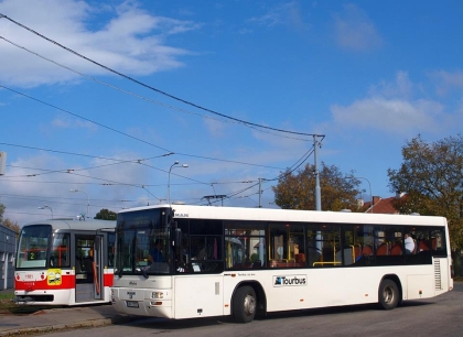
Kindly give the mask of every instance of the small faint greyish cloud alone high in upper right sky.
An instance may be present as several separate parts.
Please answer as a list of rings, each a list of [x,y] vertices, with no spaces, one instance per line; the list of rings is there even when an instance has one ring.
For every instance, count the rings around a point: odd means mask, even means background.
[[[346,4],[344,12],[334,15],[336,43],[346,50],[366,51],[381,45],[375,24],[356,4]]]

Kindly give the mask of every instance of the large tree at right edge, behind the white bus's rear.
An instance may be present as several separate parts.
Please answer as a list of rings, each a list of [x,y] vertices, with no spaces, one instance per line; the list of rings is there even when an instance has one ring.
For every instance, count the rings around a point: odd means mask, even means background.
[[[427,143],[421,135],[402,148],[403,163],[388,170],[391,192],[407,196],[396,202],[402,214],[446,217],[455,274],[461,273],[463,248],[463,138],[450,137]]]

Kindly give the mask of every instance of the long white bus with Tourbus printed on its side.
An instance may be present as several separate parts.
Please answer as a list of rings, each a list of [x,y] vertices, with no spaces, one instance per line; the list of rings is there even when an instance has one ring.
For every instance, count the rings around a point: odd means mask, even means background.
[[[147,206],[118,214],[111,302],[129,315],[239,323],[314,307],[392,309],[452,290],[451,261],[442,217]]]

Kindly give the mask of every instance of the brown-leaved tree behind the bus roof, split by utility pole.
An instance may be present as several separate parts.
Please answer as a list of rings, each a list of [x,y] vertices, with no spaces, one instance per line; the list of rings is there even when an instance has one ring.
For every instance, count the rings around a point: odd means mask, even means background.
[[[315,166],[306,164],[294,172],[281,174],[278,185],[272,187],[274,203],[284,209],[315,209]],[[343,174],[337,166],[322,162],[320,172],[321,204],[325,210],[351,209],[358,211],[357,188],[360,182],[349,174]]]

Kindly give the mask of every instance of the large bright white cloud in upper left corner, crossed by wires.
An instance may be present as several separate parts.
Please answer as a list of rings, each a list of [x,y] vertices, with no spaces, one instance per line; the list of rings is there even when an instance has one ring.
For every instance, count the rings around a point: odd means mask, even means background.
[[[99,9],[75,0],[0,2],[0,13],[118,72],[147,75],[184,66],[180,57],[190,52],[169,46],[166,39],[197,30],[198,24],[154,17],[139,9],[134,1],[123,2],[115,9],[106,6],[105,10],[99,12]],[[109,15],[110,19],[101,26],[87,26],[93,15]],[[0,31],[12,43],[77,72],[109,74],[4,18],[0,21]],[[6,85],[32,87],[69,81],[77,76],[4,40],[0,40],[0,80]]]

